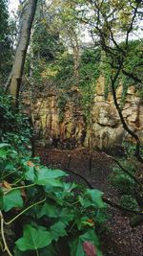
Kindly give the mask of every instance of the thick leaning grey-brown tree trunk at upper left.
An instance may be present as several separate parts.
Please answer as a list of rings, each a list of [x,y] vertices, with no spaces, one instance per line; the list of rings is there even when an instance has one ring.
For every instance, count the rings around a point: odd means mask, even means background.
[[[25,58],[31,37],[31,25],[36,10],[37,0],[26,1],[23,12],[23,22],[21,26],[19,42],[16,49],[12,75],[10,81],[10,94],[14,98],[14,105],[18,105],[19,89],[22,82]]]

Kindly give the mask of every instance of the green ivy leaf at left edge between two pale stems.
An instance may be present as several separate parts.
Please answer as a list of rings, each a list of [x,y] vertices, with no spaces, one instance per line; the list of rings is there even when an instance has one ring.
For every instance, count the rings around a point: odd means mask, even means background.
[[[23,199],[21,198],[20,190],[10,191],[8,194],[4,195],[4,205],[3,210],[5,212],[10,211],[11,208],[21,208],[23,206]]]

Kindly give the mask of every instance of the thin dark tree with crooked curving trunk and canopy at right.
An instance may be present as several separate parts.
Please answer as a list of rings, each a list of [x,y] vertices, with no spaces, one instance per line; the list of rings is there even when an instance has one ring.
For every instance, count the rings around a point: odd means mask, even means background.
[[[121,77],[127,78],[131,83],[142,86],[143,78],[141,73],[136,73],[142,65],[141,58],[133,65],[128,65],[128,59],[132,56],[133,47],[131,37],[137,30],[140,20],[141,1],[88,1],[88,9],[84,11],[81,20],[86,24],[90,23],[92,38],[95,46],[100,46],[103,51],[102,61],[109,65],[110,84],[114,105],[118,111],[123,128],[133,137],[136,142],[135,155],[143,162],[140,156],[140,141],[131,128],[126,124],[122,115],[120,103],[116,98],[117,81]],[[137,50],[140,52],[141,47]]]

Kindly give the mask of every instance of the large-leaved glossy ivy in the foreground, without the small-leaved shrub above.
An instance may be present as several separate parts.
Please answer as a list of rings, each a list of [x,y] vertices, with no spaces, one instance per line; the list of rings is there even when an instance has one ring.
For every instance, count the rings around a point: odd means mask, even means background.
[[[103,193],[66,183],[66,173],[20,156],[6,143],[0,144],[0,164],[1,211],[7,225],[19,228],[14,255],[59,255],[65,238],[71,255],[85,255],[88,241],[102,255],[97,229],[106,220]]]

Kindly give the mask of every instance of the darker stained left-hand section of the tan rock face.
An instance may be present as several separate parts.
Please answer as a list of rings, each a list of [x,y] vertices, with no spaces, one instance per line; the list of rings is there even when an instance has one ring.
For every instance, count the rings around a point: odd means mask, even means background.
[[[76,98],[79,92],[74,92]],[[82,109],[73,102],[67,103],[63,110],[62,122],[58,107],[57,93],[46,92],[22,95],[25,111],[32,114],[36,146],[46,148],[74,149],[84,146],[86,119]],[[31,111],[30,111],[31,110]]]

